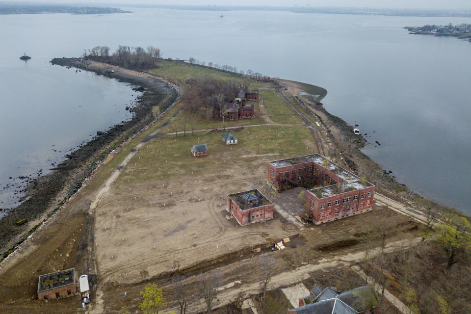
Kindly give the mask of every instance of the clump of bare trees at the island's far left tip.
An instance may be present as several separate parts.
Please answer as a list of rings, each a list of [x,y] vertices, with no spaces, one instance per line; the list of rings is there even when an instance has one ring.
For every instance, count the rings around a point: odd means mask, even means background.
[[[108,46],[96,46],[84,49],[82,57],[88,60],[105,62],[123,68],[132,69],[154,69],[158,67],[158,59],[162,57],[159,48],[148,46],[142,47],[118,46],[118,49],[110,54]]]

